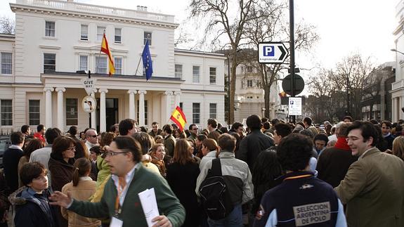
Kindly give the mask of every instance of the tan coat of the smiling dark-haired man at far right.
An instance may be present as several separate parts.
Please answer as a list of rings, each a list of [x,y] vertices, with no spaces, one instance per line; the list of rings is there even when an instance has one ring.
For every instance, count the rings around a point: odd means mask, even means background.
[[[335,188],[341,202],[346,204],[348,226],[404,226],[403,174],[403,160],[377,148],[353,162]]]

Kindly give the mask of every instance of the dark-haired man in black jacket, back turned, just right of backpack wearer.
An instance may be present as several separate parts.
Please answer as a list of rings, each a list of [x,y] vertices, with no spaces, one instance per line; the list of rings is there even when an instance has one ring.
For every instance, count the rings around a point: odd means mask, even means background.
[[[270,148],[273,143],[273,138],[263,134],[261,131],[262,122],[258,115],[247,117],[247,127],[251,133],[242,139],[240,148],[236,154],[239,160],[247,162],[249,169],[252,170],[256,157],[261,151]]]

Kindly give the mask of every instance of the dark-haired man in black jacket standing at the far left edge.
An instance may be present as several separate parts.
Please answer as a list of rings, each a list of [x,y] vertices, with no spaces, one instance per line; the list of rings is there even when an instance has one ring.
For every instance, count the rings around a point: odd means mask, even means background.
[[[24,145],[25,136],[20,131],[13,132],[10,136],[11,146],[4,151],[4,176],[8,188],[11,192],[18,189],[18,162],[22,157],[22,145]]]

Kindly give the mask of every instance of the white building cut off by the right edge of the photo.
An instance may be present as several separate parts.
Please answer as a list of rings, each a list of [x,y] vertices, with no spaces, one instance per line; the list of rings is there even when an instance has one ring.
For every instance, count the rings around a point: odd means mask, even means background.
[[[396,50],[404,52],[404,1],[398,1],[396,5],[396,30],[393,31]],[[391,120],[397,122],[404,119],[404,54],[396,52],[396,82],[391,84],[392,111]]]

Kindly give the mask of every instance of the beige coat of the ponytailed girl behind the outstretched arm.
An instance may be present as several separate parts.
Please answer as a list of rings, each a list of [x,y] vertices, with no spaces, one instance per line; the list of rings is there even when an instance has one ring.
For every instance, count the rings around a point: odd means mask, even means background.
[[[67,183],[62,188],[62,193],[70,192],[70,195],[75,200],[84,200],[88,201],[91,195],[96,192],[96,181],[92,181],[90,177],[82,177],[80,178],[79,184],[76,187],[73,186],[73,183]],[[74,212],[70,212],[65,208],[62,209],[62,215],[65,219],[69,221],[69,227],[73,226],[91,226],[98,227],[101,225],[101,221],[97,219],[90,219],[84,216],[80,216]]]

